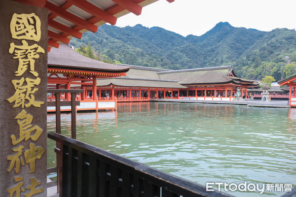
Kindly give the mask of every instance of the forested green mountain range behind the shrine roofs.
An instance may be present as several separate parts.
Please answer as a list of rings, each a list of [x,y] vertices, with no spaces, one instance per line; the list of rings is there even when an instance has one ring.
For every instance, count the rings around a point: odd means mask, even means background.
[[[201,36],[184,37],[159,27],[103,25],[71,44],[84,45],[78,51],[86,55],[86,45],[88,50],[91,46],[109,63],[168,69],[233,65],[239,76],[249,79],[272,75],[279,80],[296,72],[296,31],[288,29],[261,32],[221,22]]]

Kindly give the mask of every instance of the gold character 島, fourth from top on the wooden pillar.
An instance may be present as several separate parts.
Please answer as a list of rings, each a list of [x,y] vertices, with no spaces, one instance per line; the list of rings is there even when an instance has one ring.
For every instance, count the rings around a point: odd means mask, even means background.
[[[29,138],[31,138],[33,141],[36,141],[39,136],[42,133],[42,129],[40,127],[38,127],[37,125],[35,125],[33,127],[33,125],[31,124],[33,121],[33,116],[31,114],[28,114],[24,109],[18,114],[16,115],[16,117],[14,119],[18,119],[17,120],[17,124],[19,125],[19,139],[16,140],[16,137],[14,134],[12,134],[10,137],[12,139],[12,144],[16,145],[19,142],[23,141],[25,139],[25,141],[27,141]],[[32,132],[35,131],[34,134],[32,134]]]

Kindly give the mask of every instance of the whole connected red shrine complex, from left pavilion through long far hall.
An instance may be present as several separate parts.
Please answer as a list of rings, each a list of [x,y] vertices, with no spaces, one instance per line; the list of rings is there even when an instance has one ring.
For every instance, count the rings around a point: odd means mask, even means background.
[[[168,70],[161,68],[111,65],[84,57],[66,44],[48,53],[48,88],[82,89],[76,110],[116,109],[116,102],[151,99],[225,100],[240,90],[248,98],[247,88],[259,84],[239,78],[232,66]],[[69,95],[61,99],[70,100]],[[48,100],[54,100],[48,95]],[[55,107],[48,107],[54,111]],[[62,110],[70,110],[64,107]]]

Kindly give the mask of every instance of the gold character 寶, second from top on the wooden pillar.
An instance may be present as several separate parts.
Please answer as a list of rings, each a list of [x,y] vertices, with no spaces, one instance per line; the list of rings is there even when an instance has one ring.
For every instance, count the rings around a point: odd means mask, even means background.
[[[34,76],[38,76],[35,71],[35,60],[40,56],[38,53],[45,53],[44,49],[37,44],[29,46],[26,40],[22,40],[23,45],[15,45],[13,42],[10,43],[9,53],[14,55],[13,59],[19,60],[19,65],[17,71],[15,71],[15,76],[22,76],[24,72],[28,69],[30,65],[30,72]]]

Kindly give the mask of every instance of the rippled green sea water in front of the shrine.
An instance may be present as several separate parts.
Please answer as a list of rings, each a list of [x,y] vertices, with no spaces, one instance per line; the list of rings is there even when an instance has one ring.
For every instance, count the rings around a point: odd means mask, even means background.
[[[77,139],[205,185],[296,185],[296,108],[199,103],[118,103],[117,111],[78,113]],[[48,132],[55,115],[47,116]],[[71,114],[61,115],[71,137]],[[48,167],[55,142],[48,139]],[[224,192],[224,190],[221,190]],[[229,192],[282,196],[285,192]]]

